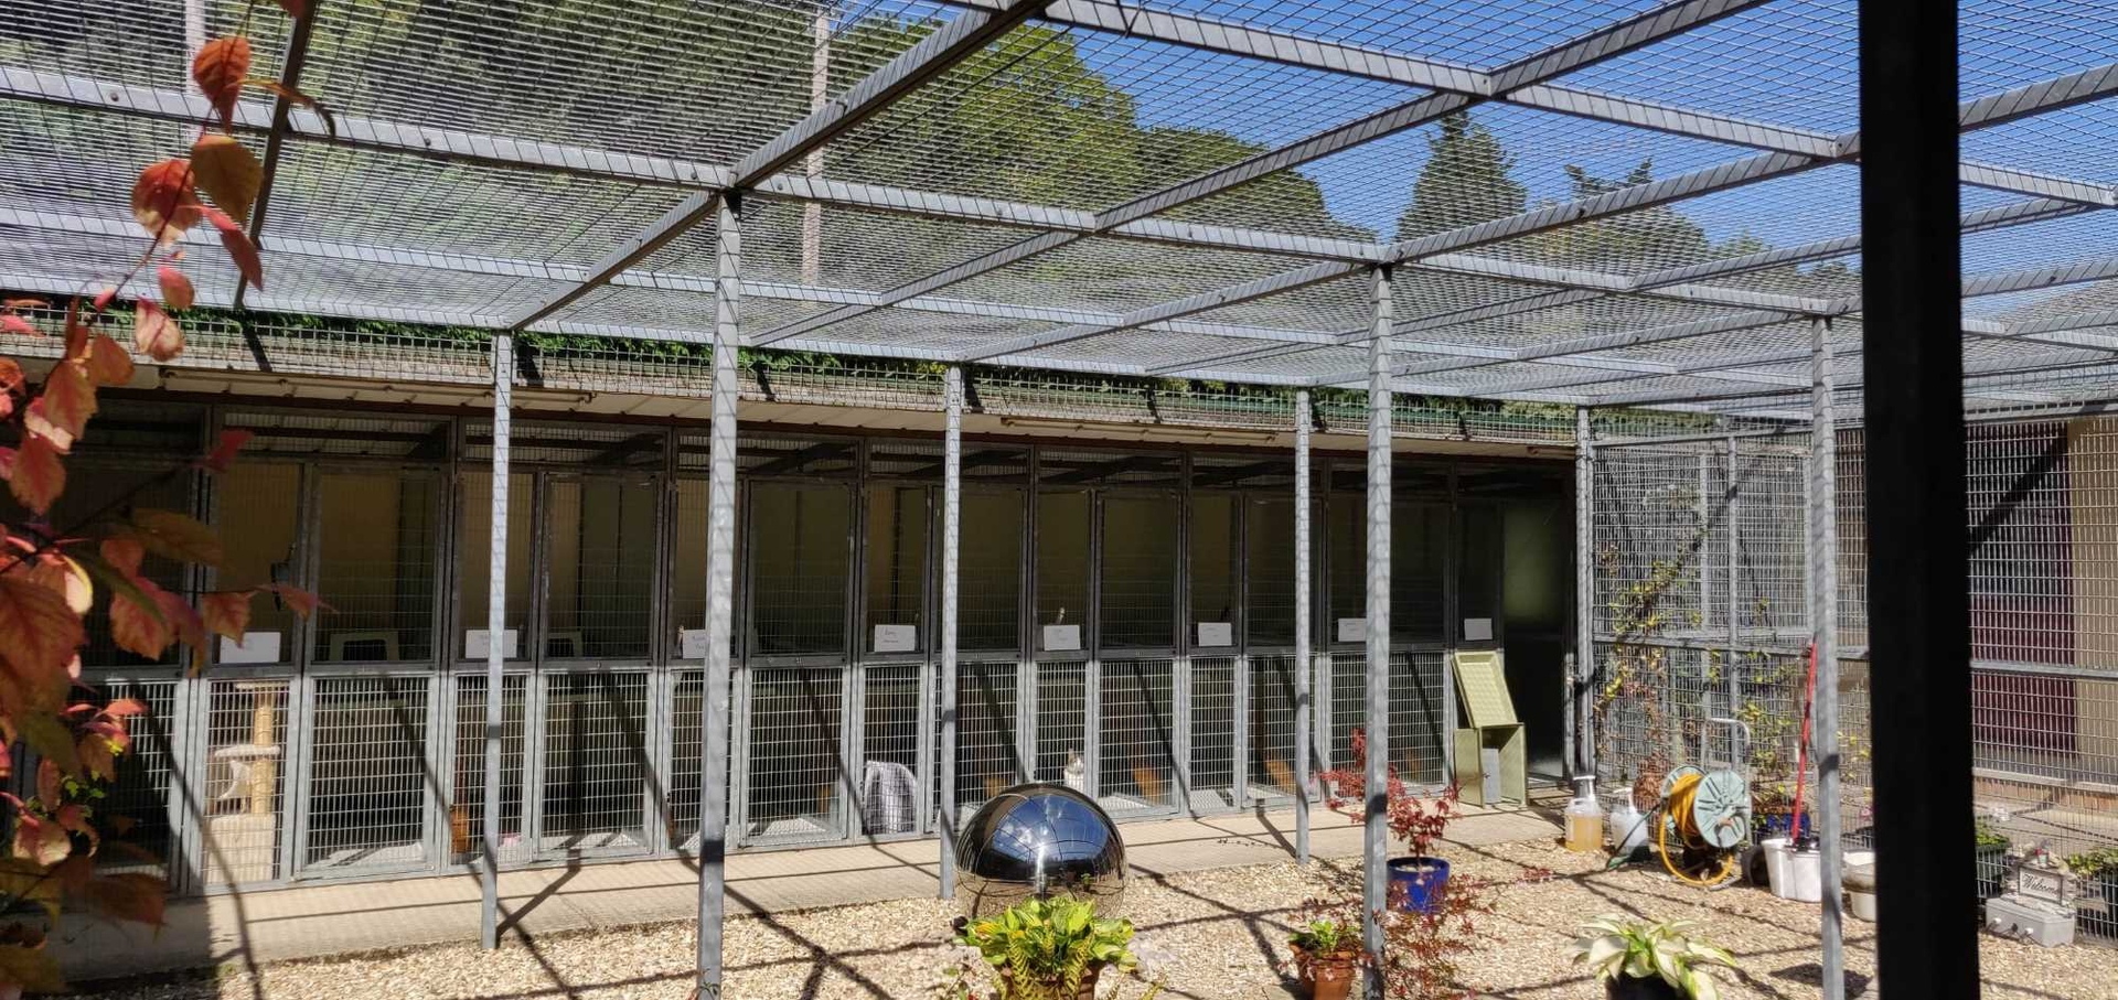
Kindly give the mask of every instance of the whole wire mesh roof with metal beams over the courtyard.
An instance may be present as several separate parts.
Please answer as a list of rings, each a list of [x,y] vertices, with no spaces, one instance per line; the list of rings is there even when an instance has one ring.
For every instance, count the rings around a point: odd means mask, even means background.
[[[735,191],[758,347],[1358,388],[1387,265],[1400,392],[1798,415],[1817,320],[1864,371],[1855,0],[309,8],[0,0],[0,286],[127,269],[246,28],[333,117],[237,108],[269,290],[199,252],[205,305],[707,341]],[[1968,405],[2110,398],[2118,2],[1959,13]]]

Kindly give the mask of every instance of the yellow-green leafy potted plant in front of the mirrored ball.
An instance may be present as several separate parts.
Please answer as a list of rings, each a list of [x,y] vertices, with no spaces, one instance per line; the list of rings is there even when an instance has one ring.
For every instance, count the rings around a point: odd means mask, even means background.
[[[962,924],[955,943],[974,949],[1000,981],[1000,1000],[1093,1000],[1106,968],[1131,972],[1139,958],[1129,947],[1133,924],[1097,917],[1076,898],[1029,898],[991,917]],[[951,998],[981,996],[957,968]],[[1137,1000],[1161,994],[1161,979]]]

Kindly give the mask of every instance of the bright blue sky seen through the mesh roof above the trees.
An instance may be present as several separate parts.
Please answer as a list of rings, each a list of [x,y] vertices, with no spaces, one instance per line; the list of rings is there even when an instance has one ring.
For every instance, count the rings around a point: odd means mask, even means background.
[[[1402,53],[1440,53],[1485,66],[1495,66],[1552,40],[1572,38],[1627,11],[1627,4],[1608,0],[1548,0],[1536,13],[1525,13],[1521,2],[1419,0],[1417,4],[1398,4],[1402,11],[1394,15],[1383,13],[1392,4],[1353,4],[1320,13],[1320,4],[1303,0],[1171,0],[1165,6],[1209,17],[1241,17],[1286,32],[1309,32]],[[1631,4],[1631,8],[1639,6],[1644,4]],[[1544,23],[1533,28],[1525,25],[1525,19],[1542,19]],[[1489,36],[1491,44],[1480,47],[1480,36]],[[1417,91],[1375,81],[1235,59],[1228,64],[1239,74],[1237,78],[1214,87],[1195,87],[1190,83],[1203,78],[1201,74],[1207,70],[1207,66],[1195,64],[1224,57],[1178,53],[1150,42],[1095,38],[1082,44],[1082,57],[1114,87],[1135,95],[1144,125],[1211,127],[1267,146],[1417,95]],[[1963,4],[1961,91],[1966,97],[2112,61],[2118,61],[2118,2],[1976,0]],[[1855,2],[1783,0],[1766,4],[1688,36],[1576,72],[1561,83],[1826,133],[1847,131],[1857,125]],[[1555,142],[1565,136],[1557,127],[1521,121],[1523,114],[1512,108],[1485,108],[1476,114],[1489,117],[1504,138],[1533,136],[1529,146],[1536,148],[1514,148],[1521,157],[1514,178],[1529,186],[1531,203],[1565,197],[1563,163],[1582,163],[1593,174],[1610,176],[1652,155],[1656,174],[1667,176],[1752,153],[1593,123],[1567,123],[1565,127],[1578,136],[1578,142],[1565,144]],[[2065,146],[2063,155],[2082,159],[2080,169],[2095,169],[2099,161],[2118,161],[2118,155],[2099,155],[2099,150],[2112,148],[2112,140],[2118,140],[2118,114],[2110,110],[2110,102],[2046,114],[2008,129],[1966,140],[1966,148],[1991,161],[2035,167],[2044,157],[2033,157],[2035,150],[2027,140],[2074,136],[2076,142]],[[1303,169],[1322,186],[1326,203],[1336,216],[1387,235],[1419,165],[1425,161],[1425,133],[1428,129],[1415,129],[1408,136],[1381,140]],[[2084,140],[2090,144],[2088,150],[2080,148]],[[2112,172],[2107,167],[2097,180],[2114,180]],[[1756,208],[1783,210],[1796,208],[1792,203],[1796,199],[1815,199],[1813,212],[1741,212],[1743,206],[1737,197],[1722,197],[1720,206],[1713,203],[1716,199],[1686,206],[1686,214],[1705,225],[1716,239],[1752,231],[1773,242],[1788,242],[1813,237],[1817,222],[1824,222],[1819,216],[1838,216],[1838,220],[1851,222],[1849,214],[1855,201],[1851,201],[1849,182],[1819,180],[1802,186],[1813,191],[1756,195]],[[1781,206],[1781,201],[1790,203]]]

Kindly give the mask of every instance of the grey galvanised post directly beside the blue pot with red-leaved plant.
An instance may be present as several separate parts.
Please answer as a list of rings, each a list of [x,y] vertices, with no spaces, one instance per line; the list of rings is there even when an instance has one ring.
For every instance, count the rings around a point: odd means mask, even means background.
[[[1368,339],[1368,773],[1362,924],[1368,951],[1383,953],[1379,915],[1389,905],[1389,267],[1375,269],[1375,331]],[[1368,992],[1383,996],[1381,968]]]

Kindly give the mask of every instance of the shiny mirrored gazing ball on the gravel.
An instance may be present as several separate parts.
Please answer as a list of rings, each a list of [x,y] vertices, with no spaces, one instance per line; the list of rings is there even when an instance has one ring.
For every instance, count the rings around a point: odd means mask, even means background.
[[[1019,784],[987,799],[957,835],[955,883],[972,919],[1031,896],[1074,896],[1114,917],[1125,841],[1095,799],[1063,784]]]

